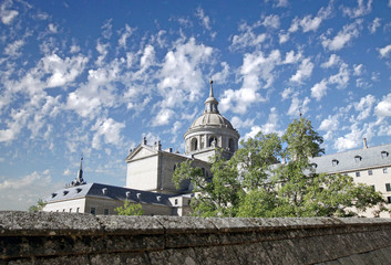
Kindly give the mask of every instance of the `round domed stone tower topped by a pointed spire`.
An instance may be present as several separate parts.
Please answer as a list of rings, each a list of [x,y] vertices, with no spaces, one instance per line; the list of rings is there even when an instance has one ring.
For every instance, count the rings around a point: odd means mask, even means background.
[[[194,120],[184,135],[185,153],[208,161],[218,148],[223,151],[223,156],[230,158],[238,149],[240,136],[229,120],[218,112],[218,102],[213,93],[213,81],[210,81],[209,97],[204,104],[204,114]]]

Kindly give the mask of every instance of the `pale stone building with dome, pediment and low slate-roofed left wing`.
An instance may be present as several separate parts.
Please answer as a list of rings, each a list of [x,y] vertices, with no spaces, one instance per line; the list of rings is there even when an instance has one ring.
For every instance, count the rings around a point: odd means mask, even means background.
[[[147,215],[187,215],[192,199],[192,187],[183,182],[176,189],[173,173],[177,163],[192,160],[195,167],[210,177],[209,157],[216,151],[230,158],[238,149],[239,134],[228,119],[218,112],[210,81],[209,97],[205,110],[186,131],[185,153],[162,149],[161,142],[148,145],[146,138],[127,155],[126,186],[102,183],[86,184],[83,180],[82,161],[78,178],[71,184],[47,198],[43,211],[115,214],[114,209],[125,200],[141,203]]]

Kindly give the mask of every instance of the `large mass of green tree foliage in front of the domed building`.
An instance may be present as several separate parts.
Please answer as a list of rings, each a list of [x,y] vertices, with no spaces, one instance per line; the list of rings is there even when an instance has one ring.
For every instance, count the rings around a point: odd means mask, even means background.
[[[231,159],[214,157],[213,178],[186,161],[173,179],[177,187],[192,181],[192,208],[199,216],[351,216],[374,206],[374,215],[385,211],[381,193],[371,187],[349,176],[315,171],[310,158],[323,153],[322,142],[310,120],[300,117],[281,137],[259,132],[241,141]]]

